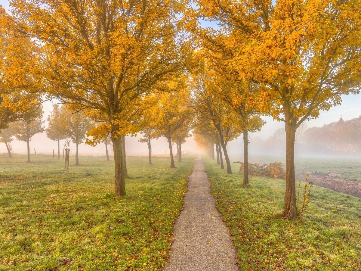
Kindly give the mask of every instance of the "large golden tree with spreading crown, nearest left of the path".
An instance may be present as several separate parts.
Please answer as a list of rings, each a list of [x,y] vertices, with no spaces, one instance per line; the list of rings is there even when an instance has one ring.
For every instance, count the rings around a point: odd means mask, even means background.
[[[20,0],[10,3],[39,40],[48,95],[103,112],[107,129],[91,131],[92,145],[112,134],[115,195],[125,195],[121,136],[138,131],[127,121],[137,100],[163,89],[190,63],[176,0]]]

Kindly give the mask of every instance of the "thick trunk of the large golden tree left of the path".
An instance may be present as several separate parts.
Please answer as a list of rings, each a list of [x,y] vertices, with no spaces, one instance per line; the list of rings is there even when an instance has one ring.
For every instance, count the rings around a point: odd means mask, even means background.
[[[113,133],[112,133],[113,134]],[[125,174],[123,167],[122,138],[112,138],[115,166],[115,195],[125,196]]]

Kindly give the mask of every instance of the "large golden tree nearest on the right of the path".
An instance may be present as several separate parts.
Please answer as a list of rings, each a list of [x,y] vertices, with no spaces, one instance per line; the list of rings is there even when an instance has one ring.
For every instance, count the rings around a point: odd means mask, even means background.
[[[200,0],[207,17],[220,20],[233,51],[228,62],[244,81],[259,83],[273,99],[271,115],[285,122],[284,215],[297,216],[294,145],[296,129],[358,93],[361,81],[358,0]]]

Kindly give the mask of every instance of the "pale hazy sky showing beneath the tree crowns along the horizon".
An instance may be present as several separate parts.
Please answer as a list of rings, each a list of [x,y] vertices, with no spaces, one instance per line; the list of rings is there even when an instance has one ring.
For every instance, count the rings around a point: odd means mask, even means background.
[[[7,0],[0,0],[0,5],[5,8],[8,8]],[[52,111],[52,103],[46,102],[43,105],[44,111],[44,120],[47,119],[49,113]],[[350,120],[355,117],[361,115],[361,94],[356,95],[343,95],[342,103],[339,106],[332,107],[329,111],[321,111],[320,115],[315,120],[306,121],[308,127],[313,126],[322,126],[323,124],[328,124],[330,122],[338,121],[342,115],[344,120]],[[268,138],[273,135],[275,130],[279,128],[284,128],[283,122],[274,121],[272,117],[262,117],[266,120],[266,124],[261,129],[260,132],[253,133],[249,135],[249,141],[252,144],[252,138],[260,137],[263,139]],[[46,127],[46,122],[45,122]],[[139,137],[127,137],[126,138],[126,151],[129,155],[147,155],[147,145],[145,143],[138,142]],[[26,142],[13,141],[13,151],[15,153],[25,153],[26,152]],[[153,152],[154,154],[169,154],[168,143],[165,138],[160,138],[158,140],[153,139]],[[6,147],[4,144],[0,144],[0,153],[6,152]],[[73,144],[74,145],[74,144]],[[62,147],[62,146],[61,146]],[[230,152],[242,152],[243,149],[243,140],[242,136],[238,140],[232,141],[228,144],[228,149]],[[53,149],[55,152],[57,151],[57,142],[49,140],[45,133],[35,135],[30,142],[31,153],[34,153],[34,148],[36,152],[39,154],[52,154]],[[75,145],[71,146],[73,150],[75,150]],[[108,148],[110,150],[110,154],[112,154],[112,147]],[[177,148],[174,146],[173,151]],[[192,138],[188,138],[187,142],[184,143],[182,150],[188,150],[197,152],[199,149],[197,148],[195,141]],[[72,151],[75,154],[75,151]],[[98,145],[96,147],[87,146],[82,144],[79,146],[79,155],[105,155],[105,147],[104,144]]]

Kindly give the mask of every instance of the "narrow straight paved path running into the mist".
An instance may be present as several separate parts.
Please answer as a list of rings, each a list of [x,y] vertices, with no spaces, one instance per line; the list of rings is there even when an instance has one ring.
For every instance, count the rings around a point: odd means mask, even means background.
[[[238,270],[236,249],[214,203],[208,176],[198,155],[188,178],[184,209],[174,224],[171,261],[164,271]]]

